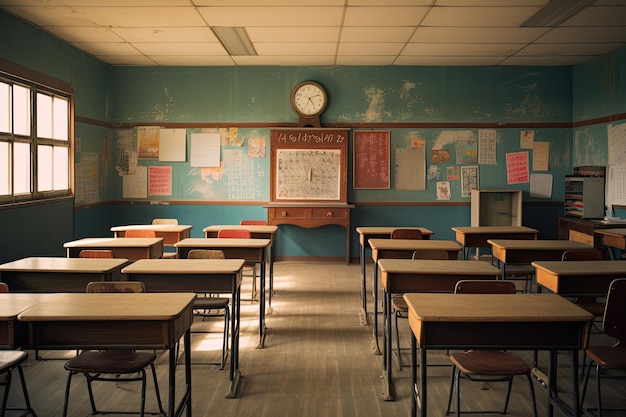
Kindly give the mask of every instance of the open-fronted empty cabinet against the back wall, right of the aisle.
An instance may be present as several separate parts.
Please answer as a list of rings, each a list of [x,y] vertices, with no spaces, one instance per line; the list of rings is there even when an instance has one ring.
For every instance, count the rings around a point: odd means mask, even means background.
[[[521,225],[522,190],[472,190],[472,227]]]

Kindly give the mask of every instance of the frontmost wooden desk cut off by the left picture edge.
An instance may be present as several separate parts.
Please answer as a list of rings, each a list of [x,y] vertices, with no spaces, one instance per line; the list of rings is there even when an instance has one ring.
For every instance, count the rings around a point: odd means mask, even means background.
[[[28,345],[28,326],[17,316],[48,294],[0,293],[0,349],[19,349]]]

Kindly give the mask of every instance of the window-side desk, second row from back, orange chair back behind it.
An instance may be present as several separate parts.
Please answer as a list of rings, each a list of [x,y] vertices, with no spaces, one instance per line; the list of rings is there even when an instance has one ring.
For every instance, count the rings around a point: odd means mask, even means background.
[[[96,237],[66,242],[68,258],[78,258],[83,249],[109,249],[115,258],[155,259],[163,257],[163,238]]]

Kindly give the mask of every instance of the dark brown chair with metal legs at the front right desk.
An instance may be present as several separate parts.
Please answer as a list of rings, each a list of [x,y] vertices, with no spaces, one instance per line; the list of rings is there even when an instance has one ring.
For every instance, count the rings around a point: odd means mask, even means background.
[[[491,280],[461,280],[454,289],[455,294],[515,294],[515,283],[511,281]],[[452,392],[456,383],[456,415],[461,415],[461,378],[463,375],[471,381],[496,382],[507,381],[508,388],[504,401],[504,409],[500,412],[506,414],[511,396],[513,377],[525,375],[528,379],[530,396],[533,404],[533,415],[537,417],[537,402],[531,376],[530,367],[515,353],[498,350],[468,350],[465,352],[453,352],[450,354],[452,362],[452,376],[450,378],[450,391],[446,415],[450,413],[452,404]],[[464,411],[463,413],[470,413]],[[484,411],[481,411],[484,413]],[[497,412],[497,411],[495,411]]]

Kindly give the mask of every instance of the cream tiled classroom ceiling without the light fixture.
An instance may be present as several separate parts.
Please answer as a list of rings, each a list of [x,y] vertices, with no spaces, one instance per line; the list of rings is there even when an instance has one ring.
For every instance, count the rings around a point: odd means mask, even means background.
[[[0,8],[112,65],[554,66],[626,43],[624,0],[0,0]],[[544,8],[549,16],[528,21]],[[243,28],[254,55],[229,54],[216,27]]]

